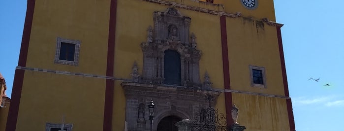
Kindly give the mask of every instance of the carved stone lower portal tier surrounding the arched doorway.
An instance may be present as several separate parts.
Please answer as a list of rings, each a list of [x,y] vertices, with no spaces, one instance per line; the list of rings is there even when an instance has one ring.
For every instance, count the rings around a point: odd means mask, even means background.
[[[206,94],[214,98],[210,101],[211,107],[215,107],[221,92],[214,90],[200,90],[182,86],[166,86],[123,82],[125,91],[127,131],[149,131],[149,112],[142,105],[154,101],[155,111],[153,129],[156,129],[160,120],[166,116],[177,116],[181,119],[195,119],[197,113],[209,106],[205,99]]]

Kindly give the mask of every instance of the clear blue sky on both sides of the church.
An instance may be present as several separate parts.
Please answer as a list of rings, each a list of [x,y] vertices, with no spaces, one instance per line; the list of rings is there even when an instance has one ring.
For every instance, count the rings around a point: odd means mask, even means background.
[[[27,0],[0,0],[0,73],[11,95]],[[297,131],[338,131],[344,118],[343,0],[275,0]],[[320,78],[318,82],[308,79]],[[331,85],[323,86],[325,84]],[[326,125],[329,124],[329,125]]]

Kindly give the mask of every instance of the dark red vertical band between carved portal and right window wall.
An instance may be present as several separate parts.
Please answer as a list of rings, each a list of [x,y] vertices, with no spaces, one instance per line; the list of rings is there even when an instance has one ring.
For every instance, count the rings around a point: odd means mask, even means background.
[[[230,89],[230,77],[229,77],[229,58],[228,58],[228,45],[227,45],[227,27],[226,27],[226,17],[220,16],[220,26],[221,26],[221,45],[222,45],[222,67],[223,67],[223,81],[224,88]],[[226,118],[227,125],[233,124],[233,119],[229,115],[231,114],[231,109],[233,105],[232,93],[225,92],[224,100],[226,106]]]

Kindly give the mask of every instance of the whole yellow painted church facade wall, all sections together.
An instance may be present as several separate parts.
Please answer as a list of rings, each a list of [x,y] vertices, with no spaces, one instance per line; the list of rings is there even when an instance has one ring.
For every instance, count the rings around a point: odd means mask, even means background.
[[[276,27],[265,23],[256,24],[254,21],[265,17],[275,20],[273,0],[259,0],[255,10],[247,10],[240,0],[215,0],[223,6],[193,0],[171,1],[215,11],[242,12],[244,18],[226,18],[231,88],[284,95]],[[153,12],[163,12],[168,7],[170,6],[143,0],[117,0],[116,36],[110,36],[116,40],[116,78],[130,79],[131,67],[135,61],[142,74],[143,53],[140,44],[146,42],[147,29],[154,25]],[[223,89],[219,16],[177,9],[182,15],[191,18],[189,30],[197,37],[197,49],[202,51],[199,61],[201,82],[207,71],[213,87]],[[110,0],[36,0],[27,66],[105,75],[109,11]],[[57,37],[81,41],[79,66],[54,64]],[[265,67],[267,88],[250,87],[249,65]],[[101,131],[105,81],[25,71],[17,131],[43,131],[46,122],[60,123],[63,114],[66,123],[74,124],[73,131]],[[123,131],[125,128],[125,95],[120,85],[122,82],[115,81],[113,131]],[[285,99],[234,93],[233,103],[237,104],[240,112],[245,112],[239,114],[239,123],[249,131],[288,129],[285,126],[288,125]],[[59,106],[64,109],[55,108]],[[224,93],[219,95],[216,108],[225,114]],[[265,116],[264,113],[270,115]],[[274,115],[279,113],[282,115]],[[257,122],[261,116],[256,115],[262,115],[266,123]],[[242,118],[246,120],[241,121]],[[273,126],[268,125],[269,123],[273,123]]]

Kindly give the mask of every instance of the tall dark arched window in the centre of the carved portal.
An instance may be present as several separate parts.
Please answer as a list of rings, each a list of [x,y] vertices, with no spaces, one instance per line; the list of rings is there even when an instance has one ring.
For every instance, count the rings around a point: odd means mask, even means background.
[[[165,50],[164,84],[181,85],[181,60],[177,51]]]

